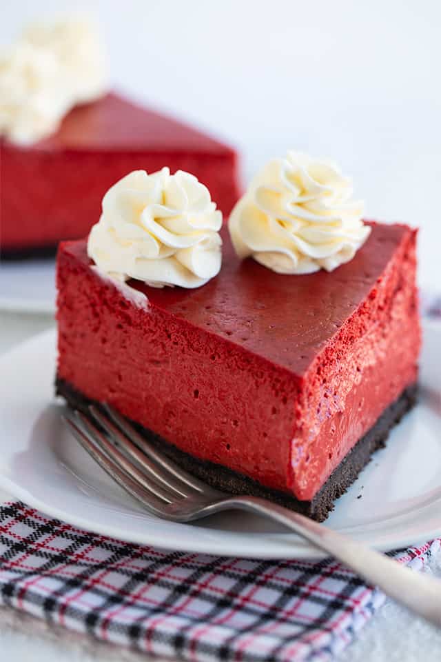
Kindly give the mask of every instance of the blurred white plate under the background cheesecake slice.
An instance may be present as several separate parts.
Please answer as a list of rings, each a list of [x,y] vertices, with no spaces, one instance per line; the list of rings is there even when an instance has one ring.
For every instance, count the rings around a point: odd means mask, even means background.
[[[0,309],[55,311],[55,260],[0,261]]]

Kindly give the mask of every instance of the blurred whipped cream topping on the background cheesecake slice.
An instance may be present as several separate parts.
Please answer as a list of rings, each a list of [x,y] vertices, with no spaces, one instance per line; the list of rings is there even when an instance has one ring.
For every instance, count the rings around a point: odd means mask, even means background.
[[[107,88],[104,49],[93,23],[33,23],[0,54],[0,135],[29,144],[57,130],[77,103]]]

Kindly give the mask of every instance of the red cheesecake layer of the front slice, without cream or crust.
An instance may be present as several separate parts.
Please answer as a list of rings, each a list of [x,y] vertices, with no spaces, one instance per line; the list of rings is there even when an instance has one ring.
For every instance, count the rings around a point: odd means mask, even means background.
[[[58,257],[59,377],[181,450],[309,500],[416,381],[416,232],[373,223],[346,265],[239,261],[197,290],[115,285]]]

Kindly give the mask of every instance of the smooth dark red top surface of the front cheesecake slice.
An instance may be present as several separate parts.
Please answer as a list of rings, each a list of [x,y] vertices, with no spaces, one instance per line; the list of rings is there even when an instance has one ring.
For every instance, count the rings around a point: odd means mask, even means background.
[[[220,274],[202,288],[158,290],[135,280],[130,285],[145,292],[152,305],[300,376],[364,301],[409,233],[405,225],[371,225],[371,235],[356,256],[331,273],[289,277],[252,259],[242,261],[224,230]],[[84,245],[70,250],[87,259]]]

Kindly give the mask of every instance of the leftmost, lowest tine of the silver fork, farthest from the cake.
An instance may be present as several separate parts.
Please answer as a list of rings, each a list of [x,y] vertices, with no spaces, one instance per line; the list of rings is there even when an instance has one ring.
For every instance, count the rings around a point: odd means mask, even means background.
[[[68,415],[61,415],[61,418],[68,426],[70,432],[72,432],[76,441],[84,448],[86,452],[96,461],[101,468],[126,492],[129,492],[136,501],[139,501],[146,510],[152,512],[153,514],[161,517],[163,516],[164,508],[167,506],[167,503],[158,499],[158,497],[141,487],[138,483],[132,480],[125,472],[121,471],[119,466],[114,463],[107,455],[99,448],[98,445],[92,441],[88,434],[83,432],[73,421],[73,419]]]

